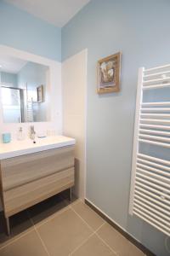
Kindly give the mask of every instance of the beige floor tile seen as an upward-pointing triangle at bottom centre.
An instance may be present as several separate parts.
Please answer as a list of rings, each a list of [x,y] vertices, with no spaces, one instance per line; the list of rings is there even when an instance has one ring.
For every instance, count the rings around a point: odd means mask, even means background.
[[[71,253],[73,256],[116,256],[111,249],[105,245],[98,236],[91,236],[81,247]]]

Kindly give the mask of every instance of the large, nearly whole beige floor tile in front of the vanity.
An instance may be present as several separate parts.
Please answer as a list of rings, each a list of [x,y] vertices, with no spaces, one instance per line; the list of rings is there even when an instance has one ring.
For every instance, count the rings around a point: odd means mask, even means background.
[[[37,227],[51,256],[68,256],[92,234],[87,224],[71,209]]]

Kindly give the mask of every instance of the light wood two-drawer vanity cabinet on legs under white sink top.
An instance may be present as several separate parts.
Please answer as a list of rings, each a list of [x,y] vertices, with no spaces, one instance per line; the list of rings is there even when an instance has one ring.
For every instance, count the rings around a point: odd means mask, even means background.
[[[0,160],[3,211],[9,217],[74,185],[74,146]]]

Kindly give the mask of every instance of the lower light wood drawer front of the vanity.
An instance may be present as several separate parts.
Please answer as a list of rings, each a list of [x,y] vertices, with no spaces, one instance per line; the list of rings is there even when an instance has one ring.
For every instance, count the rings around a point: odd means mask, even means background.
[[[74,185],[74,168],[42,177],[18,188],[3,193],[4,213],[6,217],[31,207],[48,197],[69,189]]]

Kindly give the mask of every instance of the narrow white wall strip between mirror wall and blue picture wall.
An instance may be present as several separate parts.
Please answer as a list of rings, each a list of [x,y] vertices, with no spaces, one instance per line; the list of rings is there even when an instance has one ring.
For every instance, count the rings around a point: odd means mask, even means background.
[[[76,186],[73,193],[85,197],[87,49],[62,64],[63,133],[75,137]]]

